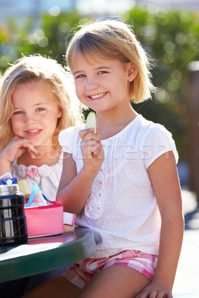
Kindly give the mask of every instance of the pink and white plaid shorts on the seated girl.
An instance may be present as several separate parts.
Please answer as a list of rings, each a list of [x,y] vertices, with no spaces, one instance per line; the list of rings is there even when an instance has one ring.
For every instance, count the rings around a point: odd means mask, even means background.
[[[157,256],[143,253],[137,250],[124,250],[118,254],[100,259],[84,259],[79,264],[75,263],[68,271],[63,274],[67,280],[77,287],[84,289],[86,284],[102,269],[113,265],[124,265],[138,270],[153,279]]]

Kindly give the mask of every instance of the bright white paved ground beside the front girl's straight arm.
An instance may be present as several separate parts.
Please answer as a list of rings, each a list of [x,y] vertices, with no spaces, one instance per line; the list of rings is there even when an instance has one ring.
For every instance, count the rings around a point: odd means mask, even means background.
[[[199,209],[195,193],[183,189],[182,195],[186,228],[173,293],[174,298],[199,298]]]

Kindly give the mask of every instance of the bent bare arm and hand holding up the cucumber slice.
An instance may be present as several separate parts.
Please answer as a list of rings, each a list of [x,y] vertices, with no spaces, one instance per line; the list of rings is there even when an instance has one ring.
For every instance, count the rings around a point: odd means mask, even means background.
[[[63,205],[65,212],[76,215],[79,215],[84,208],[94,179],[103,162],[100,138],[92,132],[93,129],[80,132],[84,165],[78,174],[72,154],[64,153],[63,170],[56,201]]]

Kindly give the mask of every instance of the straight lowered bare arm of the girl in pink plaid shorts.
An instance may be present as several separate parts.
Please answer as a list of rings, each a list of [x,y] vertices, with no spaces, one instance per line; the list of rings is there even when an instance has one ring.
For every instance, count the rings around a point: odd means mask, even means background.
[[[172,288],[184,234],[182,197],[173,151],[157,158],[148,168],[161,214],[158,264],[152,283],[136,298],[172,298]]]

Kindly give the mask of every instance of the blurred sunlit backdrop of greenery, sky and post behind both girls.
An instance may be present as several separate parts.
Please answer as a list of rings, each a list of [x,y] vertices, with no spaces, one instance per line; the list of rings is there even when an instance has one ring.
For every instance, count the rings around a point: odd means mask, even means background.
[[[40,53],[65,65],[71,28],[107,16],[132,25],[154,59],[158,89],[151,101],[133,108],[172,132],[181,185],[199,194],[199,98],[193,95],[193,74],[199,75],[199,0],[0,0],[0,72],[22,54]]]

